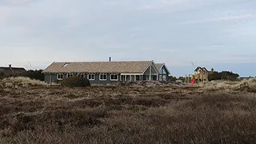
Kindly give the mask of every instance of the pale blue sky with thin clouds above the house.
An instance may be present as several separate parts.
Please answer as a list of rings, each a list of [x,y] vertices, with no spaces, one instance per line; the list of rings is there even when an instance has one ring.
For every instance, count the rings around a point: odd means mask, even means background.
[[[154,60],[256,76],[255,0],[0,0],[0,66]],[[31,66],[29,65],[31,63]]]

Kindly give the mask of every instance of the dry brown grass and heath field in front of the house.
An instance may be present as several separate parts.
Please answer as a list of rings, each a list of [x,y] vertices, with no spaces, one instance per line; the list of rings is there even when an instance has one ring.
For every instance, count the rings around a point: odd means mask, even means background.
[[[6,83],[0,82],[0,143],[256,142],[254,80],[86,88]]]

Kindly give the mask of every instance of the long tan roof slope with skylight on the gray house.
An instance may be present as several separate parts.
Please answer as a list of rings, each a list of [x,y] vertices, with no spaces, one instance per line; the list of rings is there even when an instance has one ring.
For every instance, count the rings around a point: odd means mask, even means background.
[[[130,62],[53,62],[42,73],[138,73],[153,61]]]

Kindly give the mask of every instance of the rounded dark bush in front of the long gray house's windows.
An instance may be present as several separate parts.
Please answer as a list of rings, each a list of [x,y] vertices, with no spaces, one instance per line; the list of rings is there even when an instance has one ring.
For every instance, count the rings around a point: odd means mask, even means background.
[[[70,87],[86,87],[90,86],[90,81],[87,78],[80,78],[77,76],[65,78],[61,82],[62,86],[70,86]]]

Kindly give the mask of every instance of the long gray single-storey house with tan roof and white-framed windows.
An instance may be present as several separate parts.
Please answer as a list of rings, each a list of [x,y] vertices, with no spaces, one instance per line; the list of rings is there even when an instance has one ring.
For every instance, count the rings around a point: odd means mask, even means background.
[[[42,73],[47,83],[78,75],[88,78],[92,85],[144,80],[168,81],[170,75],[164,64],[155,64],[154,61],[53,62]]]

